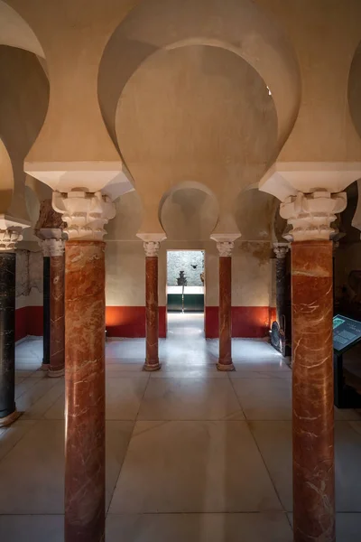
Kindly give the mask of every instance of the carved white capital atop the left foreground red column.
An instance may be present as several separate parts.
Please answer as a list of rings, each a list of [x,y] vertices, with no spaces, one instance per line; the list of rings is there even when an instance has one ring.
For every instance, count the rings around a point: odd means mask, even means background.
[[[105,224],[116,216],[116,208],[101,192],[53,192],[52,206],[60,212],[69,240],[103,240]]]

